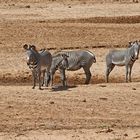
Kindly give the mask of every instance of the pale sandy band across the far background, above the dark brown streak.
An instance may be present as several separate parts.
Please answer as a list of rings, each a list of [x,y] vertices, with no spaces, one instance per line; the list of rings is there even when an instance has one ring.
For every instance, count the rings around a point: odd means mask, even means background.
[[[30,6],[30,8],[28,8]],[[1,20],[56,20],[79,19],[89,17],[136,16],[140,13],[140,4],[95,4],[95,5],[64,5],[64,4],[22,4],[1,6]],[[130,10],[131,9],[131,10]],[[63,13],[63,14],[61,14]]]

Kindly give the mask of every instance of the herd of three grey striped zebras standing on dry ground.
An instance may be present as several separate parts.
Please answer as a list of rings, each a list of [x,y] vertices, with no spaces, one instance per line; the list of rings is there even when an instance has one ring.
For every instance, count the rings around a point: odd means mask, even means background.
[[[63,86],[67,86],[65,70],[76,71],[83,68],[86,81],[89,84],[91,79],[90,67],[96,63],[95,55],[88,50],[59,51],[53,55],[45,49],[37,51],[34,45],[25,44],[23,48],[27,53],[27,65],[32,71],[33,89],[36,81],[39,81],[39,89],[45,84],[48,86],[51,82],[53,86],[53,76],[56,70],[60,71]],[[109,82],[109,74],[115,66],[126,67],[126,82],[131,82],[131,71],[134,62],[139,56],[139,41],[129,42],[125,50],[111,50],[106,55],[106,82]],[[41,80],[43,74],[43,80]],[[129,76],[129,78],[128,78]]]

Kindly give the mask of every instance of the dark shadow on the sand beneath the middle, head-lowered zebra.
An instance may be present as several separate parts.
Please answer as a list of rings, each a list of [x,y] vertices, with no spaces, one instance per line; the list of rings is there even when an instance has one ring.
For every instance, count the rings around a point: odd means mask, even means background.
[[[63,90],[68,90],[71,88],[76,88],[77,86],[62,86],[62,85],[56,85],[52,87],[52,91],[63,91]]]

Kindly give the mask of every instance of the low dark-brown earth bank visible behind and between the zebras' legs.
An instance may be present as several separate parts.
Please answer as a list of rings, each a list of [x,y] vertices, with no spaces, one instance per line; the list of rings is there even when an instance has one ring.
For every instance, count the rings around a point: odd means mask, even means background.
[[[81,85],[85,82],[85,74],[74,73],[71,75],[67,75],[67,81],[69,85]],[[133,82],[140,82],[140,76],[132,78]],[[125,76],[110,76],[110,83],[124,83]],[[56,74],[54,77],[54,84],[60,84],[61,78],[60,74]],[[105,75],[93,75],[91,77],[90,84],[101,84],[105,83]],[[31,73],[22,73],[22,74],[4,74],[0,76],[0,85],[32,85],[32,75]]]

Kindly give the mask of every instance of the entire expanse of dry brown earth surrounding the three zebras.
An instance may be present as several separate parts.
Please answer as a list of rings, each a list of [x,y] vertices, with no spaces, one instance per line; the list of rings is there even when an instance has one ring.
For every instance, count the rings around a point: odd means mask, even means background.
[[[140,139],[140,60],[132,83],[116,67],[104,80],[105,55],[140,40],[140,4],[132,1],[0,1],[0,139],[118,140]],[[91,83],[82,70],[59,73],[55,86],[31,89],[23,44],[51,53],[88,49],[97,58]]]

